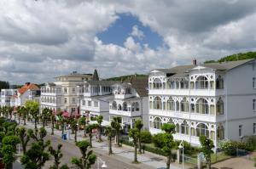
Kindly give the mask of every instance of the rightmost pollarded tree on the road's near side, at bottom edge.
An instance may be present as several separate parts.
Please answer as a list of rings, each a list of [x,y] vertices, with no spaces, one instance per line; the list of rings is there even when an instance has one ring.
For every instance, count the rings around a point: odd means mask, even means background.
[[[80,141],[77,142],[76,145],[79,147],[82,157],[72,158],[72,164],[78,166],[80,169],[89,169],[91,165],[93,165],[96,161],[96,155],[93,153],[92,150],[87,152],[90,143],[87,141]]]

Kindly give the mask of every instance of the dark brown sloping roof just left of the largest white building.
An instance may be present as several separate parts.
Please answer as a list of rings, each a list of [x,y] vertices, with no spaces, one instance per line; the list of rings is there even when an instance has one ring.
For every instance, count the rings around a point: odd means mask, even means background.
[[[130,79],[125,82],[131,83],[140,97],[148,96],[148,76],[147,77],[137,77],[132,76]]]

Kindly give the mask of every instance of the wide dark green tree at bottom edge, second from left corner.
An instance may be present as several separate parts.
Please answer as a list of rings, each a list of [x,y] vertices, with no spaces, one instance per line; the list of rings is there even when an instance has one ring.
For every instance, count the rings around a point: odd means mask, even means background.
[[[34,142],[32,147],[26,151],[20,159],[25,169],[41,169],[46,161],[49,161],[49,153],[45,148],[49,146],[49,141],[44,144],[42,141]]]

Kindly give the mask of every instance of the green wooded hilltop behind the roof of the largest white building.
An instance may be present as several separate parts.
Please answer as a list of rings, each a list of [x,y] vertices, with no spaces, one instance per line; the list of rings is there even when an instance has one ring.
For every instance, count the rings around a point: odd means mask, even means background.
[[[232,54],[230,56],[225,56],[224,58],[221,58],[218,60],[207,60],[205,61],[205,64],[213,63],[213,62],[236,61],[241,59],[256,59],[256,52]]]

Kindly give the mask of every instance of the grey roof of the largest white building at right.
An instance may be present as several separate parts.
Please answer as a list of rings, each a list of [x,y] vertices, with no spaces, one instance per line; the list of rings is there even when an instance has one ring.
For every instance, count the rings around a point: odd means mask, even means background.
[[[244,65],[247,62],[252,60],[253,59],[243,59],[243,60],[221,62],[221,63],[208,63],[208,64],[203,64],[201,66],[212,68],[214,70],[231,70],[240,65]],[[160,70],[166,73],[167,75],[169,74],[169,76],[172,76],[172,77],[184,77],[187,75],[187,72],[189,70],[195,68],[196,66],[199,66],[199,65],[178,65],[171,69],[156,69],[156,70]]]

